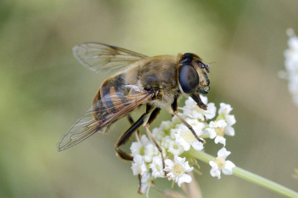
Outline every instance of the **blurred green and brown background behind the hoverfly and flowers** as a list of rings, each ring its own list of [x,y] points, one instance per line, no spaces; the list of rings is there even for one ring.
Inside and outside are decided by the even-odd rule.
[[[55,144],[90,106],[106,74],[72,56],[103,42],[148,56],[193,52],[211,65],[209,101],[229,103],[237,123],[229,160],[298,191],[298,109],[284,68],[285,30],[298,32],[292,1],[0,1],[0,197],[142,197],[114,143],[128,121],[71,149]],[[181,101],[180,106],[183,105]],[[136,118],[139,113],[134,114]],[[163,111],[153,125],[170,119]],[[143,131],[144,132],[144,131]],[[125,149],[128,149],[127,145]],[[207,144],[216,155],[220,145]],[[201,163],[204,197],[280,197],[235,176],[221,180]],[[170,182],[157,180],[156,188]],[[152,189],[150,197],[162,197]]]

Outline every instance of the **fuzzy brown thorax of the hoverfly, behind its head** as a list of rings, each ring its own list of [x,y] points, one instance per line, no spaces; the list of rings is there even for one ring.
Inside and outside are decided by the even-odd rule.
[[[141,89],[159,90],[150,105],[170,109],[174,98],[180,94],[178,85],[177,58],[173,55],[155,56],[135,63],[126,75],[126,83]]]

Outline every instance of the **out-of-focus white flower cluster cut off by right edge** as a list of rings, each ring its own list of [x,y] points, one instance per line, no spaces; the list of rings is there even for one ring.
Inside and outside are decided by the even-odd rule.
[[[288,90],[292,95],[295,105],[298,107],[298,37],[294,30],[289,28],[287,34],[289,48],[285,50],[285,69],[280,76],[288,79]]]

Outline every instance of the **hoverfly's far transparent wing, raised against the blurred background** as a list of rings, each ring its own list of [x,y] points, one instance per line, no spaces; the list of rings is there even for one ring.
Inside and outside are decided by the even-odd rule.
[[[77,60],[95,72],[119,72],[147,56],[101,43],[84,43],[72,48]]]

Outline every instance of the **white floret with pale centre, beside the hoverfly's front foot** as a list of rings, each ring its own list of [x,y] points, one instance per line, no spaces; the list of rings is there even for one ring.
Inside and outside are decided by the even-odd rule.
[[[203,132],[196,130],[195,133],[197,136],[200,136]],[[188,151],[190,146],[193,146],[197,151],[204,149],[203,144],[195,138],[193,133],[184,124],[180,124],[178,129],[171,129],[171,137],[175,138],[176,143],[182,146],[184,151]]]

